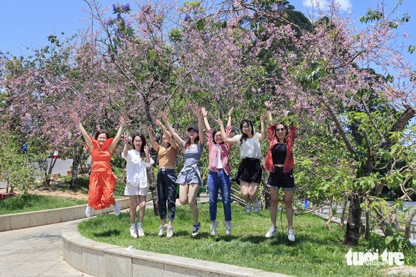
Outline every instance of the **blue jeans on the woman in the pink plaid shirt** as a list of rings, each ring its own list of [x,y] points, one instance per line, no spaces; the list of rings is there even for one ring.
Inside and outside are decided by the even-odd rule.
[[[225,221],[231,220],[231,199],[229,193],[231,191],[231,182],[229,175],[224,170],[213,172],[209,170],[208,174],[208,191],[209,191],[209,217],[211,221],[216,220],[216,203],[218,200],[218,190],[223,195],[223,206]]]

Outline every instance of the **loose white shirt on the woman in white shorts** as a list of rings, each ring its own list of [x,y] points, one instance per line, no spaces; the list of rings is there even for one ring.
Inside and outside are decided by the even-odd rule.
[[[123,152],[121,152],[121,157],[127,161],[127,178],[126,181],[133,186],[139,188],[147,188],[147,173],[146,168],[155,163],[152,158],[150,158],[150,163],[146,163],[146,159],[141,159],[140,152],[137,150],[128,150],[127,157],[124,157]]]

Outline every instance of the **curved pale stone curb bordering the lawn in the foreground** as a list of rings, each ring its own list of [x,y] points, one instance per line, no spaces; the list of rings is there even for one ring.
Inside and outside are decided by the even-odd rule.
[[[62,230],[62,244],[62,256],[69,265],[98,277],[288,277],[260,269],[117,247],[89,240],[75,228]]]

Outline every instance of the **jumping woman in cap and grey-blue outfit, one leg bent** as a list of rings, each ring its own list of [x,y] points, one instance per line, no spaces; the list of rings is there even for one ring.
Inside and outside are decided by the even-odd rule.
[[[202,184],[202,178],[200,173],[200,159],[205,142],[204,133],[202,131],[202,118],[200,115],[200,109],[193,110],[194,114],[198,118],[198,127],[191,125],[188,127],[188,140],[184,141],[177,135],[171,124],[168,123],[166,114],[161,113],[162,120],[168,127],[169,132],[172,134],[175,141],[182,146],[184,152],[184,167],[177,175],[176,183],[180,184],[179,187],[179,201],[180,204],[189,204],[193,215],[193,227],[192,236],[195,237],[200,231],[200,222],[198,222],[198,206],[196,206],[196,196],[198,190]]]

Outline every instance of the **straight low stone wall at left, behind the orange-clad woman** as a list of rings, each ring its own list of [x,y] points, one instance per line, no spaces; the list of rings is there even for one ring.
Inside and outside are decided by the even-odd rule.
[[[130,207],[128,198],[117,199],[117,203],[119,203],[121,210]],[[0,215],[0,232],[80,220],[85,217],[85,208],[87,208],[86,204],[29,213]],[[104,210],[93,211],[92,215],[101,215],[102,213],[111,213],[113,211],[114,206],[110,206],[110,208],[105,208]]]

